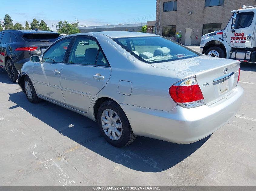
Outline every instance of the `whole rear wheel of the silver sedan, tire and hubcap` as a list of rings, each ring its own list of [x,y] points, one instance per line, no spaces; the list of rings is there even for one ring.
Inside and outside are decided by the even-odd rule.
[[[125,112],[113,100],[107,100],[99,107],[98,126],[106,141],[115,147],[129,145],[137,137]]]

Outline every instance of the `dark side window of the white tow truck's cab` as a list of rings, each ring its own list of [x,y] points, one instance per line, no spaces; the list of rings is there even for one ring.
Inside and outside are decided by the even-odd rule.
[[[235,28],[246,28],[251,25],[251,22],[254,17],[254,12],[245,12],[245,13],[238,13],[235,20]]]

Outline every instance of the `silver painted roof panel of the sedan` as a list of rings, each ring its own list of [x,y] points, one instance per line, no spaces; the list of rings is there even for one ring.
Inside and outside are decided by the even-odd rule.
[[[122,38],[122,37],[159,37],[159,35],[150,34],[150,33],[139,33],[139,32],[127,32],[127,31],[103,31],[103,32],[91,32],[91,33],[77,33],[69,36],[77,35],[88,35],[88,36],[97,36],[97,35],[106,35],[110,38]],[[66,37],[69,37],[66,36]]]

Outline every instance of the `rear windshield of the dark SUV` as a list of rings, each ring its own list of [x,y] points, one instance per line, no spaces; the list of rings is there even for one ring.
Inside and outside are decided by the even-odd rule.
[[[22,38],[28,42],[55,42],[60,37],[58,34],[36,33],[36,34],[24,34]]]

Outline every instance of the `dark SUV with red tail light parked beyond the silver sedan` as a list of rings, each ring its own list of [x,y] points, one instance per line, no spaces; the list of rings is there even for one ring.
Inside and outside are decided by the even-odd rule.
[[[0,67],[5,68],[12,82],[30,56],[40,56],[59,39],[58,33],[41,30],[5,30],[0,32]]]

